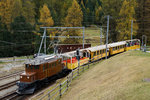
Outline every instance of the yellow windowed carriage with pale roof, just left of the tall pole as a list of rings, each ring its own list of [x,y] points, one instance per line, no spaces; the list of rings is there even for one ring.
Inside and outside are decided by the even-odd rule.
[[[87,48],[87,50],[90,52],[91,61],[106,57],[106,45]],[[109,51],[107,52],[107,56],[109,56]]]

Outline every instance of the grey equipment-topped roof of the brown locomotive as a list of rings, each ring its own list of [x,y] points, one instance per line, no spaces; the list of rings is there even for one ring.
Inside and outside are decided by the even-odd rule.
[[[32,60],[28,60],[25,64],[31,64],[31,65],[40,65],[47,62],[54,62],[58,58],[60,58],[57,55],[44,55],[44,56],[38,56]]]

